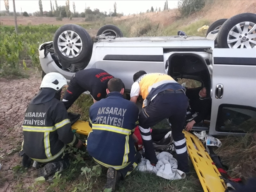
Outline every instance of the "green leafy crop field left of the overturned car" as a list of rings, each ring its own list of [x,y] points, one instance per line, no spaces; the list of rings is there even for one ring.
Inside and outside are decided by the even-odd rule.
[[[14,26],[0,28],[0,76],[24,76],[29,69],[28,59],[33,67],[40,68],[38,47],[41,43],[52,40],[59,26],[38,25],[19,26],[21,33],[16,34]],[[48,32],[47,32],[48,31]]]

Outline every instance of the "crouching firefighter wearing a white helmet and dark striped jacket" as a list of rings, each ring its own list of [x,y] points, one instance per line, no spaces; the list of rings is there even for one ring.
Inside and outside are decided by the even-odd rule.
[[[67,110],[61,99],[66,79],[59,73],[48,73],[41,83],[41,90],[31,100],[24,118],[21,155],[23,166],[28,159],[45,164],[40,176],[48,178],[69,164],[68,156],[62,158],[67,145],[82,146],[71,130]]]

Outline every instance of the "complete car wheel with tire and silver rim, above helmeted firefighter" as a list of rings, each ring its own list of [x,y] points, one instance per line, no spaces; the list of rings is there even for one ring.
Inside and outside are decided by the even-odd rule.
[[[55,53],[60,60],[71,64],[88,60],[92,55],[92,45],[92,38],[87,31],[76,24],[63,25],[54,35]]]

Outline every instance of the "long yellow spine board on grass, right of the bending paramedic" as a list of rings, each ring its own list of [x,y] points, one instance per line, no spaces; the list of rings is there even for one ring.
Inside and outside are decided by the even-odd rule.
[[[213,160],[204,148],[202,142],[193,134],[183,130],[187,140],[190,159],[201,182],[204,192],[225,192],[225,182],[220,178],[220,172],[213,165]]]

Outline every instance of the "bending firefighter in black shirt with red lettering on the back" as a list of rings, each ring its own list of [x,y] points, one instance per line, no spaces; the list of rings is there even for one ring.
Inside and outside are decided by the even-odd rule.
[[[62,102],[66,109],[75,102],[75,100],[86,91],[89,91],[93,97],[93,102],[106,97],[107,82],[113,76],[102,69],[84,69],[76,72],[70,80]]]

